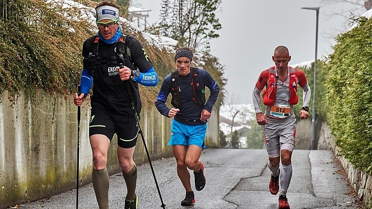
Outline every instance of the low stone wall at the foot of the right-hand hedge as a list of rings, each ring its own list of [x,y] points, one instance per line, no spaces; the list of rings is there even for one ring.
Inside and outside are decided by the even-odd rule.
[[[372,176],[362,170],[354,169],[353,165],[350,164],[344,156],[339,154],[331,131],[326,123],[322,124],[318,149],[332,150],[334,152],[336,158],[344,167],[349,182],[355,190],[358,199],[363,201],[367,208],[372,208]]]

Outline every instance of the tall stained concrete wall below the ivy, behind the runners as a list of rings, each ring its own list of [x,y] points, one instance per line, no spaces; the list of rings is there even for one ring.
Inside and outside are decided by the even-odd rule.
[[[40,91],[30,99],[24,95],[9,101],[1,94],[0,103],[0,208],[46,198],[76,188],[77,107],[72,96]],[[79,138],[79,184],[91,182],[92,150],[88,125],[90,105],[81,107]],[[218,111],[209,119],[206,145],[218,147]],[[173,156],[167,146],[170,119],[153,107],[143,107],[140,120],[143,139],[151,160]],[[110,175],[120,172],[116,156],[116,136],[109,148]],[[139,136],[134,160],[148,163]]]

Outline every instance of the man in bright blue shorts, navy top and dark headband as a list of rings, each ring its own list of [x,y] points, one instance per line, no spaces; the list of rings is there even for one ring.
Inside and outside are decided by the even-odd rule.
[[[168,145],[173,147],[177,174],[186,190],[181,205],[189,206],[195,203],[195,198],[188,169],[194,171],[196,190],[200,191],[206,185],[204,165],[199,158],[206,148],[207,120],[220,88],[207,71],[191,67],[192,52],[189,48],[177,49],[174,61],[177,70],[164,78],[155,105],[163,116],[173,118]],[[210,90],[207,102],[206,86]],[[165,105],[169,94],[174,108]]]

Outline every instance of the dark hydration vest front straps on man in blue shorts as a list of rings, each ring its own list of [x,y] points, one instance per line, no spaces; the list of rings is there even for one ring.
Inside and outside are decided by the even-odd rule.
[[[192,100],[199,105],[204,105],[206,103],[206,96],[204,93],[203,87],[199,84],[199,69],[195,67],[191,67],[191,85],[193,88],[193,96]],[[171,73],[171,89],[170,93],[172,95],[171,104],[176,107],[180,108],[180,89],[178,85],[178,71],[174,71]]]

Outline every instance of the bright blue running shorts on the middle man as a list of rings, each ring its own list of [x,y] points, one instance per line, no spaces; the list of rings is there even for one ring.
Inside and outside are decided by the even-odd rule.
[[[204,150],[206,148],[204,139],[206,138],[207,124],[185,125],[172,120],[171,134],[168,145],[196,145]]]

